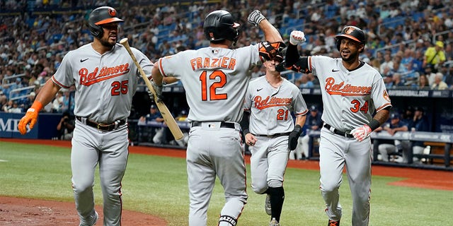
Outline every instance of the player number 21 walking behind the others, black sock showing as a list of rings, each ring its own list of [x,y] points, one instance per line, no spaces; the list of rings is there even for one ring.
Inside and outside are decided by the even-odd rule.
[[[253,147],[251,187],[256,194],[267,194],[265,210],[270,215],[269,226],[280,226],[289,151],[296,148],[308,112],[299,88],[275,71],[275,65],[281,61],[279,57],[265,61],[265,76],[248,84],[246,113],[241,122],[246,143]],[[295,126],[291,112],[296,118]]]

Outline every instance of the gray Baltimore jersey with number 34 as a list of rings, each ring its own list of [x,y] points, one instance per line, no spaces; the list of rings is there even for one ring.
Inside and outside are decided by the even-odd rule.
[[[348,71],[340,58],[313,56],[308,61],[323,90],[322,119],[333,128],[349,132],[369,124],[374,110],[391,106],[382,76],[372,66]]]

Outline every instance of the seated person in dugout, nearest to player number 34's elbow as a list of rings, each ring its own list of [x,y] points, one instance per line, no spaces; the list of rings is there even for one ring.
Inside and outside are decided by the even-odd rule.
[[[398,131],[408,131],[407,124],[404,124],[400,120],[398,113],[391,114],[390,123],[380,126],[375,131],[387,131],[391,136],[394,136]],[[382,140],[379,141],[379,154],[381,154],[382,161],[389,162],[389,154],[394,154],[396,156],[403,155],[403,149],[408,148],[408,142],[400,140]],[[395,160],[396,162],[402,162],[403,160]]]

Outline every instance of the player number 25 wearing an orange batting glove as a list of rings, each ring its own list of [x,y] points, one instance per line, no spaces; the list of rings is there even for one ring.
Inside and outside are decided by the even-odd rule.
[[[94,225],[98,220],[93,197],[96,165],[99,165],[103,191],[103,223],[121,224],[121,181],[129,145],[127,117],[141,76],[125,47],[116,43],[120,22],[123,20],[117,17],[115,8],[94,9],[88,18],[93,42],[64,56],[57,72],[45,83],[18,124],[22,134],[33,129],[42,106],[47,105],[60,88],[75,85],[71,180],[80,225],[84,226]],[[150,74],[151,61],[137,49],[132,48],[132,52],[145,73]]]

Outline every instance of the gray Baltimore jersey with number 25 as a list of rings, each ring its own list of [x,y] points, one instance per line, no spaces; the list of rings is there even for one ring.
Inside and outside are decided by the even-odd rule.
[[[151,74],[151,61],[142,52],[131,49],[143,71]],[[141,78],[137,71],[121,44],[115,44],[111,51],[103,55],[96,52],[91,44],[85,44],[66,54],[52,81],[62,88],[76,86],[76,116],[110,123],[129,117],[132,96]]]

